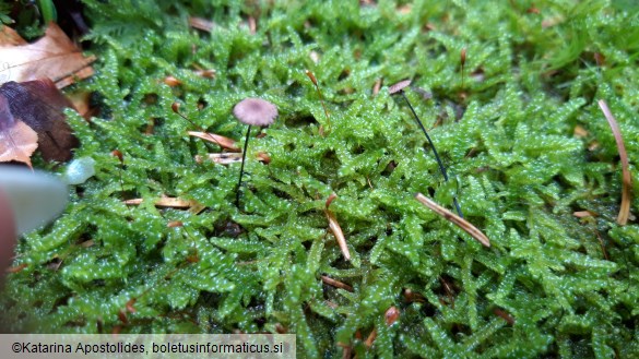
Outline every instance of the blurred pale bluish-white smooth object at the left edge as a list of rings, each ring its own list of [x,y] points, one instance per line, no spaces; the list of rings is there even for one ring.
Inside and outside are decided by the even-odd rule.
[[[0,188],[11,204],[19,236],[50,222],[67,206],[67,186],[43,171],[0,166]]]

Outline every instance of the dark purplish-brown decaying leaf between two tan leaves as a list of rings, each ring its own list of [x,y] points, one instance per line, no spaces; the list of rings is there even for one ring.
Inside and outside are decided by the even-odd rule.
[[[73,108],[73,105],[51,80],[7,82],[0,87],[0,97],[5,99],[16,122],[23,121],[37,133],[38,146],[46,160],[71,158],[78,139],[64,120],[63,109]]]

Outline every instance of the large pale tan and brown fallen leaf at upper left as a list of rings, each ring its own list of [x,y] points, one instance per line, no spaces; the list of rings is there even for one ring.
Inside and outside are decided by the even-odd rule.
[[[0,59],[9,63],[5,81],[49,77],[59,88],[73,83],[73,77],[92,75],[88,65],[95,61],[93,56],[83,56],[55,23],[49,24],[45,36],[33,44],[16,43],[14,36],[0,36]]]

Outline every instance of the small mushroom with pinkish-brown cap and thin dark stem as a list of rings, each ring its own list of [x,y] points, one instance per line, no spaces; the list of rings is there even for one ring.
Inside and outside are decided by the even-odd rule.
[[[244,142],[244,152],[241,154],[241,168],[239,170],[239,180],[237,182],[237,192],[235,196],[235,204],[239,206],[239,190],[241,188],[241,177],[244,176],[244,163],[246,160],[246,152],[248,141],[251,133],[251,125],[264,127],[273,123],[277,117],[277,107],[275,105],[261,98],[245,98],[233,108],[233,115],[242,123],[248,124],[246,131],[246,140]]]

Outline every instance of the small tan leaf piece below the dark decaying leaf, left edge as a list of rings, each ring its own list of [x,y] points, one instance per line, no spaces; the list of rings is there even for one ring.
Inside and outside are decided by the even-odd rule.
[[[31,166],[31,155],[38,147],[38,135],[24,122],[15,120],[4,96],[0,96],[0,161],[16,160]]]

